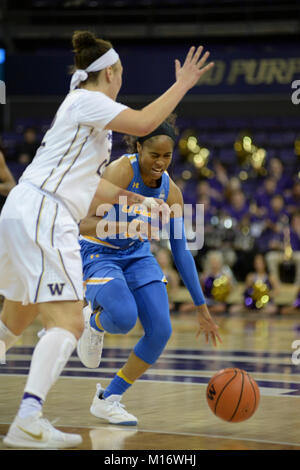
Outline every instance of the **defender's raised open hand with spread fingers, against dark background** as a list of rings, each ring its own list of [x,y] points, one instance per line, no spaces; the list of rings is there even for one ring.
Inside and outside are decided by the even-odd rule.
[[[206,64],[210,53],[206,51],[202,55],[202,52],[203,46],[199,46],[197,50],[192,46],[182,66],[178,59],[175,60],[176,81],[183,81],[188,89],[193,88],[202,75],[214,66],[213,62]]]

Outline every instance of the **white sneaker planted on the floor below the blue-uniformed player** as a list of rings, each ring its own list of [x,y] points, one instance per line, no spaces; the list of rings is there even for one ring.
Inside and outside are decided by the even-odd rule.
[[[125,410],[125,405],[120,403],[121,395],[110,395],[108,398],[99,398],[104,389],[97,384],[90,412],[97,418],[102,418],[111,424],[122,424],[123,426],[135,426],[137,418]]]

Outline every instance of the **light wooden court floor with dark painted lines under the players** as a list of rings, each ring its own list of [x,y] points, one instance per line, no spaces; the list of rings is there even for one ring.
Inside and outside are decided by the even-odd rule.
[[[108,384],[126,361],[141,336],[139,325],[126,337],[106,335],[97,370],[84,368],[74,353],[48,395],[44,415],[59,429],[80,433],[79,450],[300,450],[300,364],[292,362],[300,317],[217,321],[223,344],[213,348],[204,338],[196,340],[192,315],[174,317],[163,355],[123,399],[138,426],[104,423],[89,407],[96,384]],[[0,365],[2,437],[18,409],[39,329],[36,321]],[[210,377],[225,367],[246,370],[260,387],[259,408],[243,423],[220,420],[206,403]]]

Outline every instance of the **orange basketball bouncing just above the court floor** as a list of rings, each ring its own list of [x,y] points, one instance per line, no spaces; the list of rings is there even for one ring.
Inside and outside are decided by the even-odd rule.
[[[222,369],[210,379],[206,399],[218,418],[239,423],[254,414],[260,393],[257,383],[248,372],[241,369]]]

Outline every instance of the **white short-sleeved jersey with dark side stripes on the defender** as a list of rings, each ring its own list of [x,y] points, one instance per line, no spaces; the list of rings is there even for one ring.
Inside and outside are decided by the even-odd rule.
[[[20,183],[55,194],[79,222],[110,159],[112,132],[104,127],[126,108],[101,92],[69,93]]]

